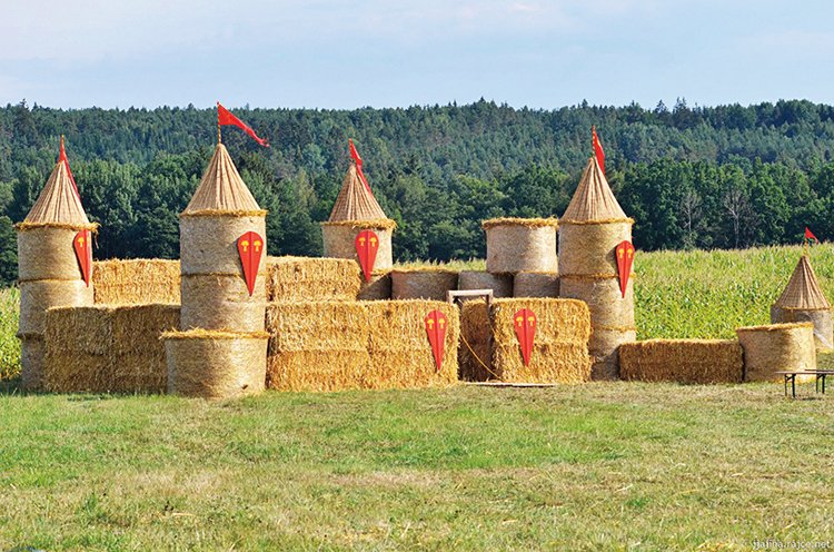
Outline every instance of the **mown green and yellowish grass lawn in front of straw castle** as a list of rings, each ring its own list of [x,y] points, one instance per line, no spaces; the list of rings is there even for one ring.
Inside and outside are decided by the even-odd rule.
[[[832,542],[834,398],[778,384],[0,396],[0,550]]]

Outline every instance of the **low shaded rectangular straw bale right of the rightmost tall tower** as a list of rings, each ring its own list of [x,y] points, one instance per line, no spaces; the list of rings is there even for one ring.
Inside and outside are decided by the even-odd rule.
[[[619,346],[619,376],[628,381],[741,383],[742,347],[735,339],[648,339]]]

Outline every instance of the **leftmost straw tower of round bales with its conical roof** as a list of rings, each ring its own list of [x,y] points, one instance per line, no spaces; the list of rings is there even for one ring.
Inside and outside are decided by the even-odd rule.
[[[83,280],[75,238],[95,230],[81,206],[68,164],[59,160],[38,200],[18,230],[21,376],[23,387],[39,390],[43,373],[47,309],[92,305],[93,286]]]

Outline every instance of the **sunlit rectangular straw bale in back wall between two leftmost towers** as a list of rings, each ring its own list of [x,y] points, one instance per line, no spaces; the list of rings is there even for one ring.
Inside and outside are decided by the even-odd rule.
[[[97,305],[179,303],[179,260],[111,259],[92,265]]]

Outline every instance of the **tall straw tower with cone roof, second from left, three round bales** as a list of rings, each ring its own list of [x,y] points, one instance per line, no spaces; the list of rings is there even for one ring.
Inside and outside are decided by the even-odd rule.
[[[181,332],[163,335],[170,393],[226,398],[264,388],[265,217],[218,144],[193,198],[180,214]],[[238,238],[248,231],[264,238],[251,295],[238,253]]]

